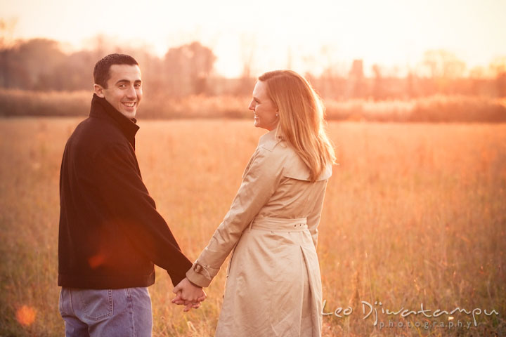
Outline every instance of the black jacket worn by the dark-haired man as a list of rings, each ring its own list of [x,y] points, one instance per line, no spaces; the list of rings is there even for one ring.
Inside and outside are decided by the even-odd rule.
[[[153,263],[173,284],[192,263],[156,210],[138,168],[138,126],[93,95],[89,118],[70,136],[60,171],[58,285],[150,286]]]

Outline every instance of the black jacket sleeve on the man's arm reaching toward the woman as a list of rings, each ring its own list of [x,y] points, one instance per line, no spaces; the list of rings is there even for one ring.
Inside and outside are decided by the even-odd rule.
[[[156,210],[131,149],[104,145],[96,154],[100,195],[117,224],[139,253],[167,270],[172,283],[185,277],[191,262],[184,256],[169,226]]]

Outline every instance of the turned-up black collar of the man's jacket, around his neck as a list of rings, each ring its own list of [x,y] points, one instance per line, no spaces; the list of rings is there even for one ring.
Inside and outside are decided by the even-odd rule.
[[[93,93],[93,99],[91,100],[89,116],[111,121],[122,131],[131,145],[135,147],[135,135],[139,129],[138,125],[136,125],[137,120],[135,118],[129,119],[125,117],[121,112],[112,107],[105,98],[100,98],[95,93]]]

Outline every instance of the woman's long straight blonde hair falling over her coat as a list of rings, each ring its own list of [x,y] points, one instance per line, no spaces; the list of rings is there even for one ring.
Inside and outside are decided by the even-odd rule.
[[[278,108],[277,133],[295,149],[309,168],[309,180],[316,181],[335,152],[325,131],[325,107],[304,77],[292,70],[266,72],[259,81]]]

